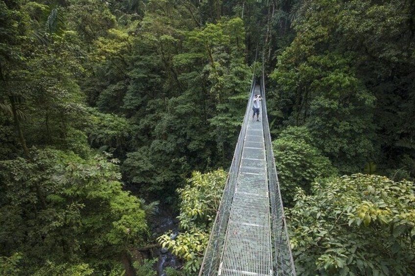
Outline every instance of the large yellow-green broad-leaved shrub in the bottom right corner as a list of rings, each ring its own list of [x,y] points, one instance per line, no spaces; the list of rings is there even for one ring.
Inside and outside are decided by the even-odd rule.
[[[301,275],[412,275],[415,205],[412,182],[355,174],[299,190],[288,212]]]

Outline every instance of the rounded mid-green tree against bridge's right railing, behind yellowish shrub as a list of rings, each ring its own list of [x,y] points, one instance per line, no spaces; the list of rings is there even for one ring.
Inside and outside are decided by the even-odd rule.
[[[313,146],[306,127],[287,127],[273,141],[273,149],[284,206],[294,205],[296,188],[309,193],[316,178],[337,173],[330,160]]]

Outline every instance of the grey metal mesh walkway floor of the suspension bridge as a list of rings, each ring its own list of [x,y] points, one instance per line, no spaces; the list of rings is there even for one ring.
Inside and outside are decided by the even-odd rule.
[[[249,121],[218,275],[273,275],[263,133]]]

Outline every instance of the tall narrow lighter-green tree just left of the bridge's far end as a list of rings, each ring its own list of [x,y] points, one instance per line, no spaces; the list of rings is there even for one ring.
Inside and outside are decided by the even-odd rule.
[[[223,165],[224,156],[232,153],[226,149],[233,148],[233,142],[230,142],[236,140],[242,123],[252,75],[241,58],[245,49],[243,27],[239,18],[223,19],[216,24],[207,24],[202,30],[190,32],[185,42],[192,52],[203,53],[204,60],[208,61],[203,72],[210,82],[210,100],[215,103],[209,123],[222,153]]]

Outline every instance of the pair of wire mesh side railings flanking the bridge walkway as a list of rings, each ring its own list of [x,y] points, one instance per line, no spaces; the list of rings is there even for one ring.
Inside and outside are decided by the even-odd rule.
[[[202,262],[199,276],[218,275],[220,267],[220,256],[223,251],[228,219],[231,212],[231,205],[236,186],[236,179],[239,173],[239,167],[242,157],[242,149],[244,146],[244,137],[248,124],[249,115],[252,107],[253,94],[255,89],[255,78],[251,86],[250,98],[245,112],[244,122],[239,133],[239,138],[235,147],[231,168],[229,170],[228,179],[225,185],[224,193],[219,205],[219,209],[212,226],[212,232],[209,236],[208,247]],[[264,98],[262,102],[262,123],[264,129],[264,139],[266,147],[267,169],[268,169],[268,185],[270,196],[270,207],[272,213],[272,235],[274,250],[274,275],[292,275],[296,276],[293,255],[287,231],[286,220],[284,216],[281,194],[279,190],[277,170],[275,167],[274,154],[271,144],[271,135],[267,117],[267,109],[265,104],[265,86],[264,86],[264,70],[262,70],[260,82],[261,95]]]

